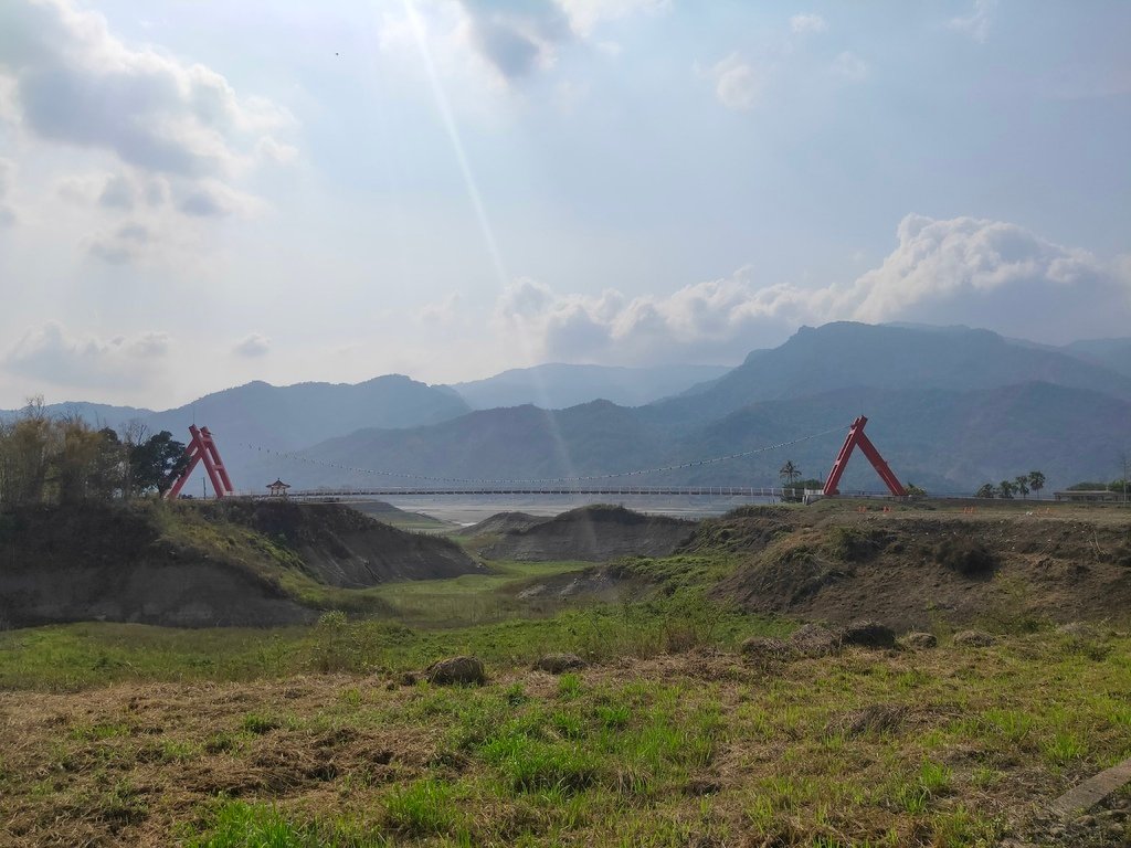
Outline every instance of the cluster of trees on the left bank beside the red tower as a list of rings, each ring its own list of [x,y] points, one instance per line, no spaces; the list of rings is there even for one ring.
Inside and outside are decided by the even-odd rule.
[[[48,415],[36,399],[0,421],[0,508],[162,495],[187,464],[169,431],[96,430],[78,415]]]

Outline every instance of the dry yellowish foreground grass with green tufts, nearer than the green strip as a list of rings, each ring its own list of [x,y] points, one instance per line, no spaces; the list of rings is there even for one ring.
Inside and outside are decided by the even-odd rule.
[[[348,640],[372,634],[340,626],[334,650],[348,665]],[[7,691],[0,834],[216,847],[993,845],[1034,801],[1131,755],[1125,635],[854,649],[772,668],[702,646],[615,644],[553,677],[504,647],[508,630],[452,634],[489,656],[495,644],[477,689],[402,685],[391,668],[278,666],[265,680],[270,663],[248,660],[254,639],[242,634],[227,666],[239,682],[210,680],[217,667],[192,686]],[[553,647],[592,644],[578,635]],[[49,637],[24,652],[58,644]],[[170,656],[152,631],[123,637],[136,657]],[[196,639],[225,652],[216,634]],[[311,647],[311,634],[291,639],[268,641],[284,657]],[[167,672],[156,660],[132,670]]]

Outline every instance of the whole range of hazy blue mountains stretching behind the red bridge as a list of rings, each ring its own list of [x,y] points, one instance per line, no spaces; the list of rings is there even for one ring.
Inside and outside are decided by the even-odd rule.
[[[1131,339],[1055,348],[965,327],[837,322],[801,328],[734,369],[551,364],[455,386],[253,382],[162,413],[60,406],[174,434],[208,424],[248,491],[276,476],[299,487],[422,485],[681,465],[631,481],[777,485],[787,459],[823,477],[861,414],[905,482],[969,492],[1042,470],[1051,491],[1119,475],[1131,449]],[[849,464],[843,491],[879,487],[863,459]]]

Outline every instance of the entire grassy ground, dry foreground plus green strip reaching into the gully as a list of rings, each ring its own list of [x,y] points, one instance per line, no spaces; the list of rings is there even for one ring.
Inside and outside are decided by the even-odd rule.
[[[619,563],[647,588],[614,604],[532,611],[523,588],[589,565],[494,563],[364,590],[309,628],[0,632],[0,845],[1067,848],[1131,837],[1125,817],[1070,837],[1038,820],[1131,756],[1122,625],[1069,633],[998,616],[996,642],[972,648],[940,615],[934,649],[753,660],[744,639],[785,638],[797,622],[710,599],[741,556],[727,553],[733,536],[717,542]],[[331,608],[336,592],[351,596],[325,591]],[[552,651],[589,665],[533,670]],[[484,660],[486,685],[409,674],[457,654]]]

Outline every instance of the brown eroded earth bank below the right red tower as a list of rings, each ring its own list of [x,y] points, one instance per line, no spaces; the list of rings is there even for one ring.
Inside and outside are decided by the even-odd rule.
[[[912,629],[1131,609],[1128,522],[1071,510],[740,510],[705,521],[689,545],[720,548],[742,565],[715,597],[753,612]]]

